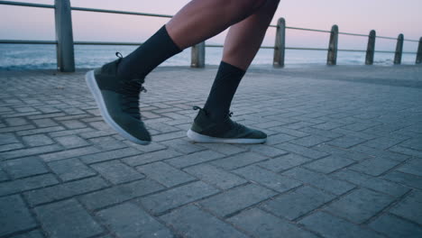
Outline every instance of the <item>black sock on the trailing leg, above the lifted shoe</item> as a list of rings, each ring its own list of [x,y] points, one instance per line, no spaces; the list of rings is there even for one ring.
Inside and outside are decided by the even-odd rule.
[[[145,78],[152,69],[159,66],[182,50],[171,40],[165,26],[134,50],[119,64],[117,74],[124,78]]]

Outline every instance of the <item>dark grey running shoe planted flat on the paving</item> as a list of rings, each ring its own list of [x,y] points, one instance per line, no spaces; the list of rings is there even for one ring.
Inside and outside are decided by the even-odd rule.
[[[227,115],[225,121],[216,123],[204,109],[194,106],[194,110],[198,109],[199,113],[188,131],[188,138],[193,142],[263,143],[267,141],[267,134],[235,123],[230,119],[231,114]]]

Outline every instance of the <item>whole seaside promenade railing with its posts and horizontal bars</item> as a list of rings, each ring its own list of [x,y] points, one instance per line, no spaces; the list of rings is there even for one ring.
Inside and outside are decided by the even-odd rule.
[[[105,14],[130,14],[130,15],[141,15],[161,18],[171,18],[172,15],[168,14],[147,14],[138,12],[127,12],[127,11],[115,11],[105,9],[95,9],[86,7],[71,7],[69,0],[55,0],[54,5],[41,5],[31,4],[22,2],[11,2],[11,1],[0,1],[0,5],[17,5],[17,6],[28,6],[38,8],[50,8],[54,9],[55,12],[55,26],[56,26],[56,41],[24,41],[24,40],[0,40],[0,43],[14,43],[14,44],[55,44],[57,51],[57,64],[60,71],[73,72],[75,71],[75,59],[74,59],[74,45],[140,45],[139,42],[115,42],[115,41],[73,41],[73,29],[71,21],[71,11],[83,11],[83,12],[94,12],[94,13],[105,13]],[[375,52],[380,53],[394,53],[394,64],[401,63],[402,54],[416,54],[416,64],[422,63],[422,37],[419,41],[404,39],[403,34],[399,34],[398,38],[376,36],[376,32],[372,30],[369,35],[356,34],[349,32],[339,32],[338,26],[333,25],[331,31],[307,29],[299,27],[288,27],[284,18],[280,18],[277,25],[270,25],[272,28],[276,28],[276,39],[275,45],[261,46],[261,49],[272,49],[274,50],[273,66],[283,67],[285,60],[285,50],[325,50],[328,52],[326,63],[327,65],[336,65],[337,52],[348,51],[348,52],[366,52],[366,65],[372,65]],[[286,29],[308,31],[308,32],[325,32],[330,33],[330,41],[328,48],[302,48],[302,47],[287,47],[286,46]],[[366,50],[348,50],[338,49],[338,36],[339,34],[349,36],[359,36],[368,38],[368,46]],[[386,39],[397,41],[396,50],[375,50],[376,39]],[[418,42],[417,52],[404,52],[403,42]],[[201,42],[192,47],[191,51],[191,67],[203,68],[205,67],[205,48],[206,47],[223,47],[223,45],[217,44],[205,44]]]

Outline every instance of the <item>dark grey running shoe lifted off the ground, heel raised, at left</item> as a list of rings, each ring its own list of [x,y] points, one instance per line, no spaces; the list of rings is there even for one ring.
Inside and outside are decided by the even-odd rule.
[[[96,105],[105,122],[131,142],[149,144],[151,135],[141,121],[139,95],[146,91],[142,79],[126,79],[117,76],[119,58],[103,67],[87,72],[87,86],[96,99]]]

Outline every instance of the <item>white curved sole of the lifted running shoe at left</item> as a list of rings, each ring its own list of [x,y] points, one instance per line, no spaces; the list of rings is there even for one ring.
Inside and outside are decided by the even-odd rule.
[[[92,95],[96,99],[96,105],[98,105],[98,109],[99,109],[101,115],[103,116],[106,124],[110,125],[113,129],[115,129],[115,131],[117,133],[120,133],[125,139],[127,139],[131,142],[139,143],[139,144],[142,144],[142,145],[147,145],[147,144],[151,143],[151,142],[148,142],[148,141],[142,141],[142,140],[137,139],[136,137],[134,137],[130,133],[127,133],[126,131],[124,131],[124,129],[122,127],[120,127],[118,124],[115,123],[115,121],[112,119],[111,115],[108,114],[107,108],[105,107],[104,98],[101,95],[101,91],[100,91],[98,85],[96,84],[96,78],[95,78],[95,75],[94,75],[94,70],[88,71],[87,74],[85,75],[85,79],[87,81],[87,87],[89,88]]]

